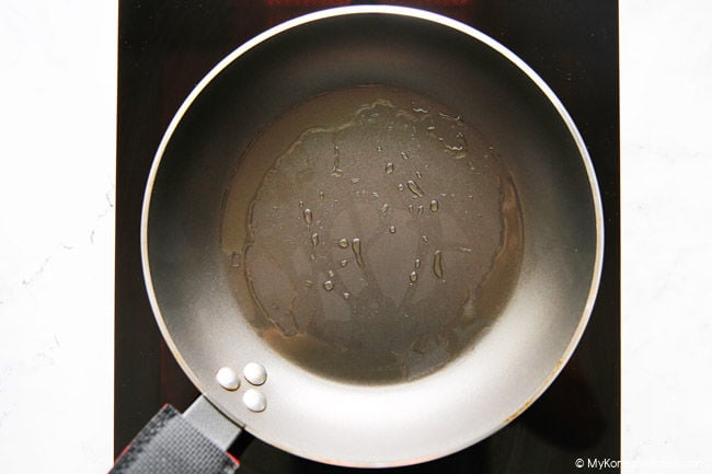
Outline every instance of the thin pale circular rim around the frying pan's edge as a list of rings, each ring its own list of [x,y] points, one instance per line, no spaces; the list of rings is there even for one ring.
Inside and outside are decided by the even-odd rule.
[[[602,261],[604,261],[604,212],[602,212],[602,203],[601,203],[601,196],[600,196],[600,190],[597,184],[593,162],[590,160],[590,157],[588,154],[588,150],[586,149],[586,146],[584,143],[583,137],[581,136],[578,129],[576,128],[573,118],[570,116],[569,112],[565,109],[564,105],[561,103],[559,97],[554,94],[554,92],[549,88],[549,85],[541,79],[541,77],[533,71],[524,60],[521,60],[518,56],[516,56],[513,51],[510,51],[508,48],[506,48],[504,45],[498,43],[497,41],[491,38],[490,36],[485,35],[484,33],[464,24],[461,23],[457,20],[452,20],[450,18],[444,16],[438,13],[425,11],[425,10],[420,10],[415,8],[407,8],[407,7],[395,7],[395,5],[347,5],[347,7],[337,7],[337,8],[332,8],[332,9],[326,9],[326,10],[321,10],[317,11],[313,13],[309,13],[302,16],[298,16],[296,19],[289,20],[287,22],[284,22],[279,25],[273,26],[272,28],[259,34],[257,36],[253,37],[252,39],[248,41],[246,43],[242,44],[239,46],[237,49],[234,49],[232,53],[230,53],[228,56],[226,56],[222,60],[220,60],[198,83],[197,85],[191,91],[188,96],[183,101],[179,109],[176,111],[175,115],[171,119],[164,135],[161,138],[161,141],[159,143],[159,147],[157,149],[157,152],[153,158],[153,162],[151,164],[149,175],[147,178],[147,184],[146,184],[146,189],[143,194],[143,200],[142,200],[142,208],[141,208],[141,221],[140,221],[140,252],[141,252],[141,265],[142,265],[142,271],[143,271],[143,280],[146,285],[146,290],[148,293],[148,299],[151,305],[151,310],[153,312],[154,319],[157,321],[157,324],[161,331],[162,337],[165,340],[166,345],[169,346],[171,352],[173,356],[176,358],[179,365],[181,368],[184,370],[191,382],[198,389],[200,390],[202,393],[204,393],[214,404],[216,404],[225,414],[226,416],[230,417],[231,419],[234,420],[233,416],[228,415],[230,411],[225,409],[223,406],[220,406],[218,401],[213,400],[209,394],[209,390],[206,389],[205,384],[198,379],[197,374],[191,369],[191,366],[187,363],[187,361],[183,358],[181,355],[181,351],[173,339],[170,328],[166,325],[166,320],[163,316],[158,298],[156,294],[156,290],[153,287],[153,280],[151,277],[151,268],[150,268],[150,263],[149,263],[149,248],[148,248],[148,226],[149,226],[149,216],[150,216],[150,201],[151,201],[151,195],[153,192],[153,186],[156,184],[156,177],[158,174],[158,171],[160,169],[162,159],[165,154],[165,150],[168,148],[169,142],[171,141],[171,138],[173,137],[179,124],[185,116],[185,114],[188,112],[193,103],[196,101],[196,99],[200,95],[200,93],[214,81],[214,79],[220,74],[229,65],[234,62],[238,58],[243,56],[245,53],[250,51],[251,49],[255,48],[260,44],[266,42],[267,39],[279,35],[283,32],[286,32],[288,30],[295,28],[297,26],[317,22],[320,20],[325,20],[325,19],[331,19],[331,18],[336,18],[336,16],[342,16],[342,15],[354,15],[354,14],[386,14],[386,15],[394,15],[394,16],[407,16],[416,20],[423,20],[426,22],[432,22],[436,23],[446,27],[449,27],[451,30],[455,30],[459,33],[462,33],[471,38],[473,38],[476,42],[480,42],[497,53],[499,56],[505,58],[507,61],[509,61],[512,65],[514,65],[519,71],[521,71],[532,83],[536,85],[537,89],[539,89],[544,96],[547,97],[548,102],[554,107],[559,116],[561,117],[563,124],[566,126],[566,129],[569,131],[570,137],[573,139],[581,161],[584,165],[584,169],[586,171],[586,175],[588,178],[588,190],[590,193],[592,201],[593,201],[593,212],[596,219],[595,222],[595,229],[596,229],[596,252],[594,256],[594,264],[593,264],[593,273],[592,273],[592,280],[590,280],[590,287],[588,290],[588,294],[586,298],[586,302],[584,305],[584,310],[582,312],[582,315],[578,320],[578,325],[576,326],[571,340],[569,345],[566,346],[565,350],[563,351],[561,358],[559,359],[558,363],[555,367],[552,368],[551,372],[549,375],[541,382],[541,384],[530,394],[526,403],[524,403],[517,411],[515,411],[510,416],[504,418],[499,425],[493,426],[489,432],[486,432],[485,436],[481,437],[480,439],[476,440],[462,440],[463,442],[460,443],[459,446],[452,447],[450,446],[450,450],[447,452],[443,453],[437,453],[433,455],[428,455],[427,459],[401,459],[401,460],[391,460],[388,463],[382,463],[382,462],[371,462],[371,461],[365,461],[363,463],[355,463],[352,461],[347,462],[342,462],[341,460],[321,460],[315,456],[315,453],[312,452],[300,452],[298,449],[295,449],[292,446],[284,446],[283,443],[276,442],[275,440],[272,439],[269,436],[263,436],[259,430],[253,430],[250,429],[251,432],[255,433],[255,436],[264,439],[265,441],[269,442],[273,446],[276,446],[280,449],[284,449],[286,451],[292,452],[295,454],[310,458],[310,459],[317,459],[322,462],[329,462],[332,464],[340,464],[340,465],[348,465],[348,466],[359,466],[359,467],[374,467],[374,466],[401,466],[401,465],[409,465],[413,463],[420,463],[420,462],[425,462],[428,460],[437,459],[443,455],[447,455],[451,452],[459,451],[460,449],[467,448],[471,446],[473,442],[476,442],[481,439],[486,438],[487,436],[494,433],[495,431],[502,429],[504,426],[506,426],[508,423],[514,420],[518,415],[520,415],[529,405],[531,405],[548,388],[549,385],[553,382],[553,380],[556,378],[556,375],[561,372],[565,363],[569,361],[571,356],[573,355],[575,348],[577,347],[583,333],[587,326],[587,323],[590,319],[590,314],[594,309],[594,304],[596,301],[596,296],[598,293],[598,289],[600,286],[600,278],[601,278],[601,273],[602,273]],[[237,420],[234,420],[237,421]],[[240,425],[243,425],[244,423],[239,423]],[[252,428],[252,427],[251,427]]]

